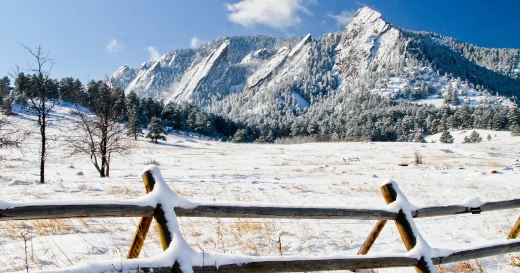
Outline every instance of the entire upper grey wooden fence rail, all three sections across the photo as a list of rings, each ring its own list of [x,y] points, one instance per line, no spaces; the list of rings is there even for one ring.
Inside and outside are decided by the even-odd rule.
[[[479,207],[463,205],[428,206],[412,210],[413,218],[449,216],[520,208],[520,199],[486,202]],[[152,206],[121,204],[37,205],[17,206],[0,210],[0,220],[28,220],[92,217],[153,216]],[[175,208],[179,217],[220,218],[292,218],[292,219],[352,219],[395,220],[397,213],[373,209],[333,209],[320,207],[228,206],[199,205],[193,209]]]

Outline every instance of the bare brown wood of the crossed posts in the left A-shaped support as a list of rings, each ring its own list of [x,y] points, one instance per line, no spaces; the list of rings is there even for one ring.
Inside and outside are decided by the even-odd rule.
[[[142,181],[145,184],[146,193],[150,193],[155,186],[155,178],[153,178],[150,170],[142,174]],[[142,245],[145,243],[146,235],[148,234],[148,230],[150,229],[153,218],[155,218],[155,222],[157,222],[157,230],[159,232],[159,238],[161,240],[163,250],[166,250],[168,246],[170,246],[170,243],[172,242],[172,235],[170,230],[168,230],[166,227],[167,220],[164,217],[162,206],[161,204],[157,204],[155,211],[153,212],[153,216],[141,217],[134,235],[134,240],[132,241],[132,245],[128,251],[128,259],[139,257],[139,253],[141,252]]]

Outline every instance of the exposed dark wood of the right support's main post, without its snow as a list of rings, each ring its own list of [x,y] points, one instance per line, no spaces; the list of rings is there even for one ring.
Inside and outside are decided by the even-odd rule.
[[[392,203],[397,200],[397,191],[394,189],[393,183],[387,183],[383,185],[381,187],[381,192],[383,193],[383,198],[385,199],[386,204]],[[411,220],[413,221],[413,219]],[[406,214],[402,211],[402,209],[400,209],[397,213],[395,225],[397,226],[397,230],[399,230],[399,234],[401,235],[402,241],[405,243],[406,250],[410,251],[414,248],[415,244],[417,244],[417,238],[415,238],[415,236],[413,235],[410,222],[407,219]],[[423,256],[421,256],[421,258],[419,259],[419,264],[415,266],[415,271],[417,271],[418,273],[431,272]]]

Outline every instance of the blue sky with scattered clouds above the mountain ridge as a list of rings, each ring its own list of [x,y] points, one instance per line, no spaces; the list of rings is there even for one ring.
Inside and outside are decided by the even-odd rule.
[[[342,30],[362,6],[401,28],[520,48],[515,0],[7,0],[0,16],[0,77],[30,60],[19,43],[49,51],[56,60],[53,77],[84,82],[220,36],[317,37]]]

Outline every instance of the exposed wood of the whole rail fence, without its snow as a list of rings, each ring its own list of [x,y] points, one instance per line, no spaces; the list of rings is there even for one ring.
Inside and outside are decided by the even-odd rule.
[[[147,193],[153,191],[155,178],[151,171],[142,175]],[[388,183],[381,187],[383,198],[387,204],[406,197],[400,192],[395,183]],[[406,211],[400,207],[397,212],[374,209],[334,209],[321,207],[277,207],[277,206],[229,206],[229,205],[199,205],[192,209],[175,207],[178,217],[228,217],[228,218],[291,218],[291,219],[362,219],[377,220],[369,236],[358,251],[357,256],[348,258],[313,258],[295,261],[294,259],[276,261],[258,261],[245,264],[193,266],[194,272],[307,272],[329,270],[356,270],[369,268],[415,267],[417,272],[432,272],[431,265],[449,264],[520,251],[520,241],[504,240],[500,243],[482,248],[472,248],[452,252],[446,256],[430,257],[430,254],[421,253],[420,258],[407,255],[392,257],[367,257],[367,254],[378,238],[379,233],[388,220],[394,220],[402,241],[408,251],[413,249],[421,235],[414,232],[413,218],[457,215],[464,213],[479,214],[482,212],[516,209],[520,207],[520,199],[482,203],[479,207],[464,205],[428,206],[417,210]],[[166,250],[172,241],[172,234],[168,230],[168,222],[161,204],[141,206],[133,204],[82,204],[82,205],[34,205],[17,206],[0,210],[0,220],[28,220],[52,218],[88,218],[88,217],[141,217],[134,240],[128,251],[127,258],[137,258],[151,226],[152,219],[157,223],[157,230],[163,250]],[[417,230],[416,230],[417,231]],[[516,221],[507,239],[515,239],[520,232],[520,218]],[[177,261],[171,261],[171,267],[139,268],[141,272],[182,272]]]

